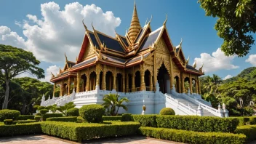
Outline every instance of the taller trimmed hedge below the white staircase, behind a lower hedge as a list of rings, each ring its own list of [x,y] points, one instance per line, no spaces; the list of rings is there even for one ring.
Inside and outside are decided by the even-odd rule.
[[[236,118],[212,116],[156,116],[157,127],[192,130],[195,132],[234,132],[239,124]]]

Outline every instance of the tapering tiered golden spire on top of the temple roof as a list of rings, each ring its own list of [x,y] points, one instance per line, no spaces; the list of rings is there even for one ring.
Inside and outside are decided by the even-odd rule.
[[[137,9],[135,4],[133,8],[132,22],[128,31],[128,36],[129,36],[129,39],[131,39],[132,43],[134,43],[137,37],[137,34],[140,32],[140,29],[141,29],[140,20],[139,20],[139,17],[137,17]]]

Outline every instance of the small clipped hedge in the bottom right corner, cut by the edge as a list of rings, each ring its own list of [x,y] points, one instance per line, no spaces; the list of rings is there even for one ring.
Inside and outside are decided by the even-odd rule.
[[[246,135],[248,142],[256,140],[256,125],[239,126],[236,128],[235,133]]]

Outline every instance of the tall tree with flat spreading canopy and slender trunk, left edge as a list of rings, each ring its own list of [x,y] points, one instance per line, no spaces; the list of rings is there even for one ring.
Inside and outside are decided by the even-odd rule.
[[[35,75],[38,79],[44,78],[44,70],[36,66],[39,63],[32,52],[0,44],[0,79],[6,84],[3,109],[7,109],[9,103],[9,83],[12,78],[25,72]]]

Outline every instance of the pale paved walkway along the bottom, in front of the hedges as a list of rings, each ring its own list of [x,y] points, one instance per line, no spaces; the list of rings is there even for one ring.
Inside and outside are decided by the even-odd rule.
[[[57,137],[50,137],[47,135],[30,135],[30,136],[16,136],[16,137],[2,137],[0,138],[0,143],[4,144],[78,144],[69,140],[63,140]],[[168,140],[158,140],[148,137],[117,137],[117,138],[108,138],[102,140],[88,140],[84,143],[100,143],[100,144],[110,144],[110,143],[131,143],[131,144],[178,144]],[[181,143],[179,143],[181,144]]]

